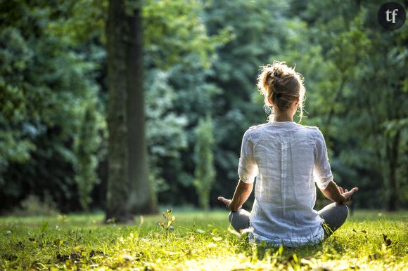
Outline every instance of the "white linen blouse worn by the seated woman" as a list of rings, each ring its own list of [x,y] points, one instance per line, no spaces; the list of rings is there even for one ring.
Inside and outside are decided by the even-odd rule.
[[[272,246],[316,244],[324,237],[313,207],[316,187],[333,180],[324,137],[317,127],[274,121],[243,135],[239,178],[253,183],[250,227],[257,241]]]

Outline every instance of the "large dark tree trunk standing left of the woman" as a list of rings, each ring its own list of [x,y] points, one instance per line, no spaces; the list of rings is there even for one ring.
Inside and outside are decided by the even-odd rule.
[[[139,4],[139,3],[136,3]],[[136,5],[135,5],[136,6]],[[138,5],[140,6],[140,4]],[[140,9],[110,0],[107,25],[109,172],[106,218],[121,222],[156,211],[148,180]]]

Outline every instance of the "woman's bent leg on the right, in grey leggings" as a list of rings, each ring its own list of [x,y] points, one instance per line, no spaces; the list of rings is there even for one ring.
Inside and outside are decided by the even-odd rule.
[[[348,207],[345,204],[333,202],[325,206],[318,213],[319,216],[324,219],[324,235],[325,237],[329,237],[345,222],[348,216]]]

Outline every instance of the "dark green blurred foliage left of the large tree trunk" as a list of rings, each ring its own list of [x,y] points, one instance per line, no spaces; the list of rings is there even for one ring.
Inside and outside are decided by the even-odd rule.
[[[60,208],[77,209],[78,197],[83,206],[89,204],[96,180],[97,131],[103,117],[98,107],[85,110],[98,100],[96,63],[75,50],[64,32],[54,31],[70,14],[68,4],[55,2],[57,10],[46,1],[0,5],[1,209],[15,206],[28,193],[51,197]],[[85,129],[92,135],[87,143],[96,147],[79,147],[85,117],[91,124]]]

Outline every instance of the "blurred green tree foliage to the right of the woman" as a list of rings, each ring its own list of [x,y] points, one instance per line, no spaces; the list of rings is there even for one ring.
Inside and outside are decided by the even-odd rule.
[[[408,115],[401,44],[406,31],[381,29],[376,19],[380,1],[334,5],[338,11],[331,9],[333,3],[293,1],[299,10],[287,13],[292,31],[283,39],[287,50],[276,58],[304,74],[305,124],[323,131],[335,180],[360,188],[356,204],[395,209],[398,201],[406,206],[406,195],[397,187],[407,183],[401,173],[407,168],[408,126],[393,126],[393,135],[385,128],[404,123]]]

